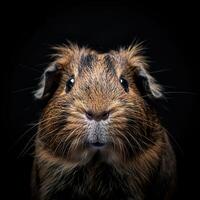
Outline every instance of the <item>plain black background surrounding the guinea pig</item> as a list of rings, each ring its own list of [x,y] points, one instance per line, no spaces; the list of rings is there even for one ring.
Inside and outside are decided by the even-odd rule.
[[[31,137],[36,128],[21,140],[18,138],[39,117],[32,91],[51,61],[51,47],[67,40],[99,51],[128,46],[134,40],[144,41],[151,73],[166,92],[167,100],[159,112],[177,155],[176,199],[194,199],[198,188],[198,183],[194,184],[198,180],[197,16],[194,5],[170,2],[7,5],[2,16],[2,39],[8,59],[4,57],[5,64],[1,66],[4,199],[29,199]]]

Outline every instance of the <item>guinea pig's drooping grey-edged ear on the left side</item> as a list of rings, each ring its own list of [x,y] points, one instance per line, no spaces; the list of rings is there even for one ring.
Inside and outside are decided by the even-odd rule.
[[[50,98],[58,88],[61,72],[56,63],[51,64],[43,73],[39,88],[34,92],[36,99]]]

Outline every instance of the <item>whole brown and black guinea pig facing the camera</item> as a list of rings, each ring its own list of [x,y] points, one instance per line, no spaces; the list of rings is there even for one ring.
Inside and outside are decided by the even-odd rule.
[[[141,45],[56,47],[35,98],[34,200],[169,200],[176,159]],[[152,103],[154,102],[154,103]]]

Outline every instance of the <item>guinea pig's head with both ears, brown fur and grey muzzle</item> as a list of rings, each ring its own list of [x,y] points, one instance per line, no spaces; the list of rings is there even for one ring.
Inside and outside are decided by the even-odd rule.
[[[140,47],[99,54],[65,46],[44,72],[35,96],[47,99],[37,139],[50,152],[73,160],[125,160],[151,135],[144,96],[160,98]],[[149,137],[149,139],[148,139]]]

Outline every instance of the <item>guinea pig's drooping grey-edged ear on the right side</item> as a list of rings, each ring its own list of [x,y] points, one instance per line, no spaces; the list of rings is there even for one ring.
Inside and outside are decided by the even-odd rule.
[[[162,87],[143,66],[136,68],[135,80],[136,86],[142,96],[150,97],[151,99],[160,99],[163,97]]]

